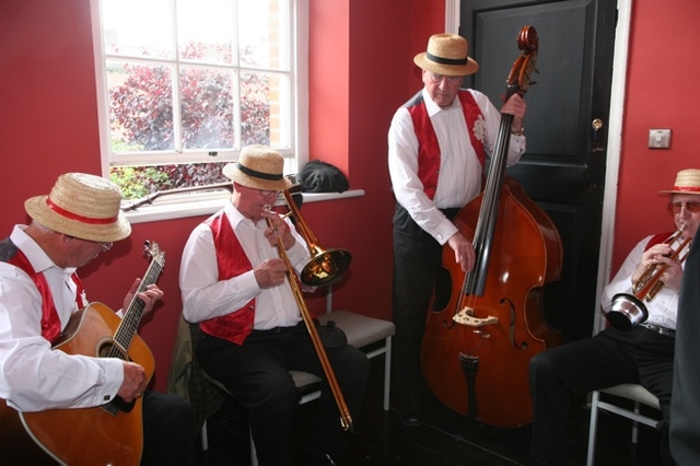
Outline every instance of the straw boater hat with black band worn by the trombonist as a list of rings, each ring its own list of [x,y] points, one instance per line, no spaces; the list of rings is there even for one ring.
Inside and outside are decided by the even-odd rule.
[[[247,145],[238,161],[223,167],[223,174],[233,182],[253,189],[282,190],[292,187],[283,175],[284,158],[267,145]]]

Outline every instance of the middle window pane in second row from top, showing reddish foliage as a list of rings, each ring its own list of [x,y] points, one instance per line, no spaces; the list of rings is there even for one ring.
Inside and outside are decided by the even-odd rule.
[[[233,82],[231,71],[180,68],[184,149],[233,148]]]

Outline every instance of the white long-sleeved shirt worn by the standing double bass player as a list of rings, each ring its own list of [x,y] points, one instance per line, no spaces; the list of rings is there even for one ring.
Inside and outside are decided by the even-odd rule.
[[[483,114],[481,128],[475,133],[482,140],[489,156],[495,144],[501,113],[485,94],[468,91]],[[441,151],[435,196],[432,200],[425,196],[423,184],[418,177],[418,138],[410,114],[405,107],[394,114],[388,131],[389,175],[396,200],[420,228],[444,245],[457,232],[457,228],[439,209],[460,208],[477,197],[481,190],[483,167],[471,147],[459,98],[455,98],[451,108],[443,109],[430,98],[425,89],[421,92]],[[524,152],[525,137],[511,136],[506,165],[517,163]]]

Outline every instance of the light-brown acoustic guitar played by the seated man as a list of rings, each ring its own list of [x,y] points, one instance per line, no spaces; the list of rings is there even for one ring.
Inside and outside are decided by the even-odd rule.
[[[165,253],[145,242],[151,264],[138,292],[155,283]],[[69,354],[119,358],[143,366],[150,381],[155,360],[137,335],[144,303],[133,298],[124,318],[102,303],[90,303],[74,313],[54,349]],[[125,403],[116,397],[93,408],[19,412],[0,399],[0,452],[12,465],[98,466],[138,465],[143,451],[141,398]]]

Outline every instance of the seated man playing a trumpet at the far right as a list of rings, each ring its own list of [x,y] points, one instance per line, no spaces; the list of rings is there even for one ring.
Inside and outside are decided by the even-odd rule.
[[[663,269],[664,287],[645,302],[648,318],[627,331],[609,327],[592,338],[573,341],[538,353],[530,361],[533,397],[533,454],[547,464],[567,464],[567,427],[571,396],[631,383],[641,384],[658,398],[663,419],[657,424],[661,457],[673,464],[668,450],[668,415],[674,369],[674,342],[678,294],[684,264],[673,254],[686,238],[692,238],[700,223],[700,170],[678,172],[667,205],[677,235],[650,235],[629,253],[617,275],[605,288],[604,313],[614,296],[632,293],[652,267]],[[673,236],[673,242],[667,242]],[[662,267],[663,266],[663,267]]]

